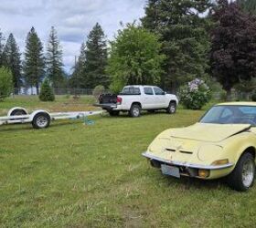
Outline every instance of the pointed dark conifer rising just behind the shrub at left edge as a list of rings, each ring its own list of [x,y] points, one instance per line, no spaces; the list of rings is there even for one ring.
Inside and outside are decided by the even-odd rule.
[[[3,65],[9,68],[12,72],[14,87],[17,89],[16,92],[18,92],[19,88],[22,85],[20,57],[21,54],[16,44],[16,39],[11,33],[8,36],[8,39],[5,44],[3,53]]]

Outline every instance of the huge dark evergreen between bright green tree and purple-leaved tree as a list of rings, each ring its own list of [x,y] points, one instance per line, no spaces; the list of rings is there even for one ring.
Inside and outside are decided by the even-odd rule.
[[[202,14],[210,6],[210,0],[148,0],[142,22],[164,44],[164,88],[176,90],[193,78],[207,77],[208,20]]]

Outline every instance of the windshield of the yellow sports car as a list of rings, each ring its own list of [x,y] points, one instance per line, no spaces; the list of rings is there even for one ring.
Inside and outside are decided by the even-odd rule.
[[[256,126],[256,106],[221,105],[208,110],[201,123],[251,124]]]

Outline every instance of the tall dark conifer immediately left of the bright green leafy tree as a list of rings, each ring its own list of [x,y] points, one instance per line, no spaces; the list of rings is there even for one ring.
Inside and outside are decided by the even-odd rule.
[[[84,87],[95,88],[98,85],[109,86],[105,73],[107,66],[107,45],[104,32],[99,23],[91,30],[86,42],[86,61],[83,74],[86,77]]]

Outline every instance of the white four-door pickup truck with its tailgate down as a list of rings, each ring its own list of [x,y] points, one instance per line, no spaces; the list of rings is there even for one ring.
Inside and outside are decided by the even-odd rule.
[[[128,111],[131,117],[139,117],[142,110],[154,112],[165,109],[175,113],[178,99],[155,86],[126,86],[119,95],[101,94],[97,107],[107,110],[111,116]]]

